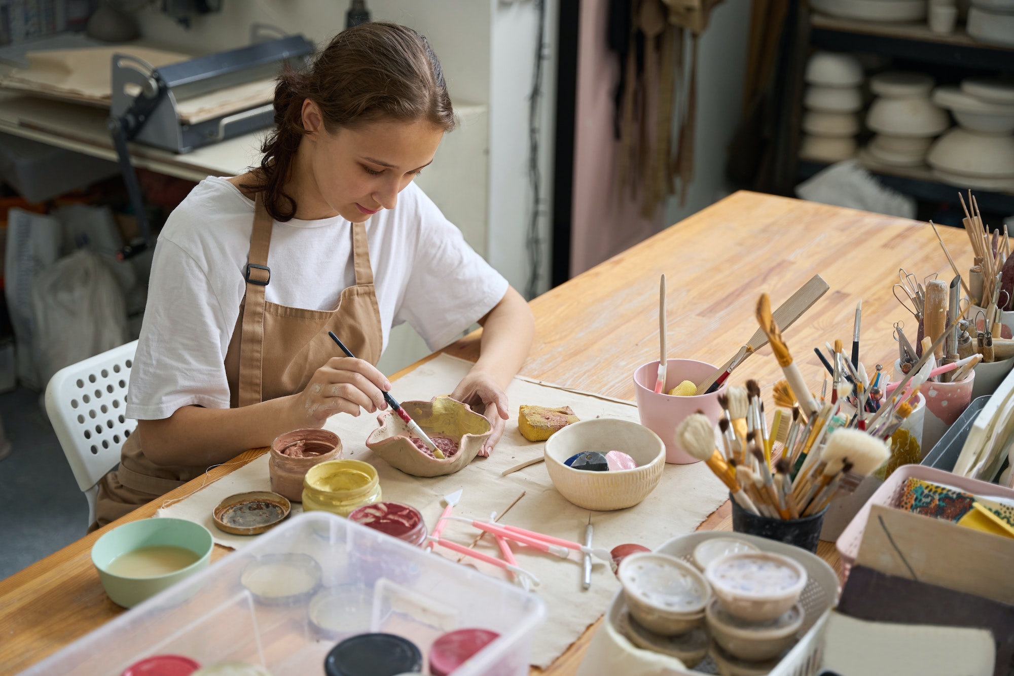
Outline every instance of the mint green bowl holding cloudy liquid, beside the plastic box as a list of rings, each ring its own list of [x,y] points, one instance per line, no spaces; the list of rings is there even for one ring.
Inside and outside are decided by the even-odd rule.
[[[154,578],[123,578],[106,570],[117,556],[141,547],[184,547],[200,558],[186,568]],[[91,562],[98,569],[105,593],[118,606],[133,608],[180,580],[208,567],[215,541],[207,528],[185,519],[142,519],[124,524],[98,538],[91,547]]]

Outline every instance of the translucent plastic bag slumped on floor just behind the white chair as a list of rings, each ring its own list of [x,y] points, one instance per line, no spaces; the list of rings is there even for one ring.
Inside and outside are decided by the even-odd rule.
[[[43,383],[55,373],[127,342],[127,310],[116,276],[81,250],[40,272],[31,286],[32,354]]]

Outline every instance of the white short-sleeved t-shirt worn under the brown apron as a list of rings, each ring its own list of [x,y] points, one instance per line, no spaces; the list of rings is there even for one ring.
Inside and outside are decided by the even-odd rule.
[[[155,248],[148,306],[130,379],[130,418],[167,418],[182,406],[228,408],[225,352],[245,292],[254,201],[209,177],[169,215]],[[443,347],[507,292],[415,184],[366,223],[383,345],[408,322]],[[268,254],[271,302],[333,310],[355,284],[351,223],[341,216],[275,222]]]

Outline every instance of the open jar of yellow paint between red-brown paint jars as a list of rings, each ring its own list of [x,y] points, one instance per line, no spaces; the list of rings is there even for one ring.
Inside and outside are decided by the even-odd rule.
[[[303,512],[320,510],[348,517],[353,510],[380,501],[376,469],[359,460],[331,460],[303,478]]]

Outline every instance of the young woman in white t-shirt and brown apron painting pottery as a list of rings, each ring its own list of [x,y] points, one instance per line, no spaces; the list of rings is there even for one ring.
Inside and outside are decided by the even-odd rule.
[[[99,482],[95,527],[282,432],[385,408],[373,364],[403,322],[432,348],[483,325],[451,396],[493,423],[485,454],[503,432],[533,321],[412,183],[454,125],[426,39],[339,33],[280,77],[275,122],[258,168],[201,182],[162,229],[128,395],[137,430]]]

